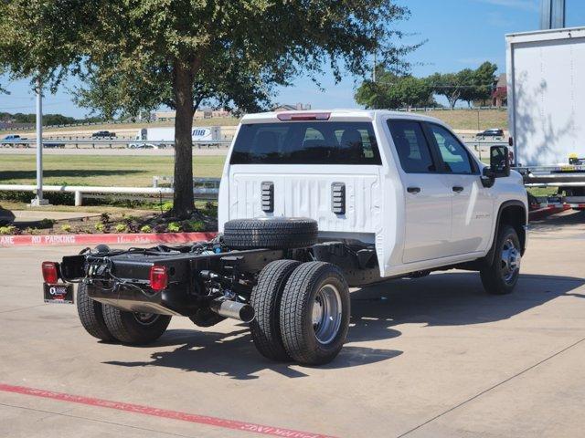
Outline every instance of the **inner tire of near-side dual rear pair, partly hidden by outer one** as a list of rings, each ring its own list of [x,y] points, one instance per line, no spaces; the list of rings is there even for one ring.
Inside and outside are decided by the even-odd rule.
[[[291,360],[282,345],[281,298],[286,281],[299,265],[294,260],[269,263],[261,270],[258,284],[252,289],[250,305],[256,313],[250,323],[252,340],[261,355],[271,360]]]

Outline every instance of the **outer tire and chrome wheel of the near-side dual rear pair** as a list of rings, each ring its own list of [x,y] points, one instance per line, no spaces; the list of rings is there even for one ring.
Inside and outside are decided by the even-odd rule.
[[[284,349],[304,365],[334,360],[346,340],[349,315],[349,288],[341,270],[330,263],[303,263],[293,271],[282,292]]]

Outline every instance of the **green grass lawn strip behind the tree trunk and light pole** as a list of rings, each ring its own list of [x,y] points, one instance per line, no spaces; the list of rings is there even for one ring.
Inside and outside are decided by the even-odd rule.
[[[195,155],[193,174],[220,177],[224,156]],[[172,156],[45,155],[44,183],[98,186],[152,186],[153,176],[173,175]],[[0,156],[0,183],[33,184],[35,155]]]

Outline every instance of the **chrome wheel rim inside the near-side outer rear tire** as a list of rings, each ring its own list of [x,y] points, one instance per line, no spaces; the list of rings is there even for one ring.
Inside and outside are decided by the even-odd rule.
[[[341,326],[342,304],[339,290],[331,284],[321,287],[314,297],[312,319],[314,335],[322,344],[328,344]]]

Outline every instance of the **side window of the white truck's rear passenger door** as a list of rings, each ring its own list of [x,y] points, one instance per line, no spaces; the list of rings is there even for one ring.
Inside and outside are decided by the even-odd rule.
[[[432,159],[431,148],[420,122],[388,120],[388,127],[404,172],[436,172],[437,168]]]

